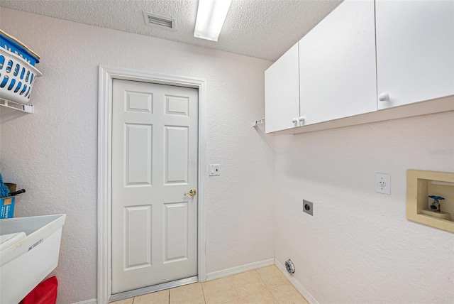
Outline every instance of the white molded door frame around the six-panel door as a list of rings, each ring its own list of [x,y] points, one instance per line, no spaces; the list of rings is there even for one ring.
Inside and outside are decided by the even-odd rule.
[[[197,208],[197,276],[199,282],[206,281],[205,256],[205,102],[206,80],[165,75],[123,67],[99,65],[98,69],[98,259],[97,259],[97,302],[109,303],[111,298],[111,122],[112,82],[114,79],[150,82],[159,85],[191,87],[199,91],[199,145],[198,145],[198,208]]]

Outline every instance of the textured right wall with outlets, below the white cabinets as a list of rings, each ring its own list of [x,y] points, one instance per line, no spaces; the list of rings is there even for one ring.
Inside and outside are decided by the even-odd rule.
[[[319,303],[454,303],[454,235],[405,215],[407,169],[454,172],[454,112],[275,145],[276,256]],[[375,173],[391,175],[391,195],[375,192]]]

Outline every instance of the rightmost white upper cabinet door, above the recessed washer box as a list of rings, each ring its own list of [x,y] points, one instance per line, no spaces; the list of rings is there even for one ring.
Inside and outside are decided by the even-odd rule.
[[[378,108],[454,94],[454,1],[377,1]]]

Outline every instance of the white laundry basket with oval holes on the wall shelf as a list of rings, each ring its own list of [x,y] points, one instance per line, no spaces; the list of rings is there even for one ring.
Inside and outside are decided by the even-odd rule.
[[[20,56],[0,48],[0,98],[28,104],[36,77],[43,74]]]

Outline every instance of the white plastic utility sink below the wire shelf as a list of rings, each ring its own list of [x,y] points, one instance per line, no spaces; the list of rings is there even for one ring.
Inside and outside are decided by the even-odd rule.
[[[0,219],[0,303],[19,303],[57,267],[65,219]]]

